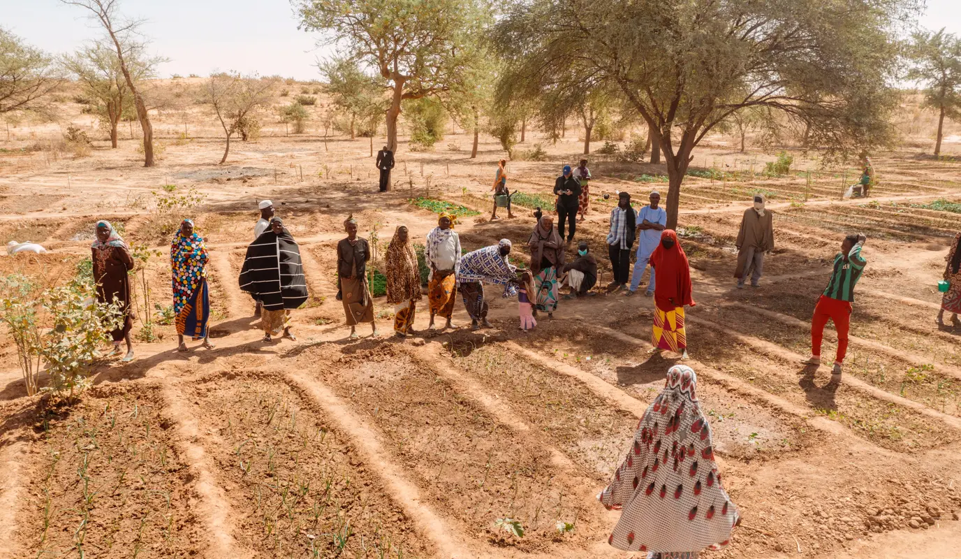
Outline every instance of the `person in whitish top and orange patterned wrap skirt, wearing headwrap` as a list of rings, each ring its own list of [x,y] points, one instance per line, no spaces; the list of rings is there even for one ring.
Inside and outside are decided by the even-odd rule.
[[[437,218],[437,226],[427,234],[424,259],[427,267],[431,268],[427,284],[427,298],[431,307],[431,323],[428,328],[431,330],[435,315],[447,319],[444,328],[455,327],[451,318],[454,317],[457,270],[460,267],[460,237],[454,230],[455,223],[455,216],[441,214]]]

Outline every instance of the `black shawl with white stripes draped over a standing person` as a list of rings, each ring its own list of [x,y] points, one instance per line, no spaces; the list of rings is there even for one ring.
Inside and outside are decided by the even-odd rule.
[[[307,281],[300,246],[284,229],[267,229],[247,247],[240,289],[254,295],[268,311],[296,309],[307,301]]]

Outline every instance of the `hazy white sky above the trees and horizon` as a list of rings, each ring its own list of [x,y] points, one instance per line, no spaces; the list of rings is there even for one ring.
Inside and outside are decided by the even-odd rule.
[[[318,78],[314,34],[297,30],[288,0],[122,0],[123,13],[145,18],[153,50],[170,62],[160,74],[213,70]],[[82,9],[60,0],[0,0],[0,25],[53,53],[72,51],[100,31]],[[927,0],[921,24],[961,35],[961,0]]]

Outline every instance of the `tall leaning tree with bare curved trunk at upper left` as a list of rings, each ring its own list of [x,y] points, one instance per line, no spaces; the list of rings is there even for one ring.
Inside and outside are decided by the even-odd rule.
[[[136,119],[143,131],[143,166],[154,166],[154,127],[143,101],[143,95],[135,84],[135,72],[129,64],[134,52],[142,52],[145,43],[136,39],[140,21],[123,18],[118,12],[119,0],[61,0],[62,3],[79,6],[90,13],[90,18],[103,25],[117,52],[117,63],[124,81],[134,96]]]

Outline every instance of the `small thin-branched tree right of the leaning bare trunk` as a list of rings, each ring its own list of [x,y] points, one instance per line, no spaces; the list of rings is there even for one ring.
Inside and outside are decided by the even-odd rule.
[[[201,100],[213,108],[213,113],[227,137],[220,165],[227,161],[231,152],[231,137],[240,132],[241,128],[249,126],[259,109],[269,105],[276,85],[275,79],[241,76],[239,72],[222,72],[210,76]]]

